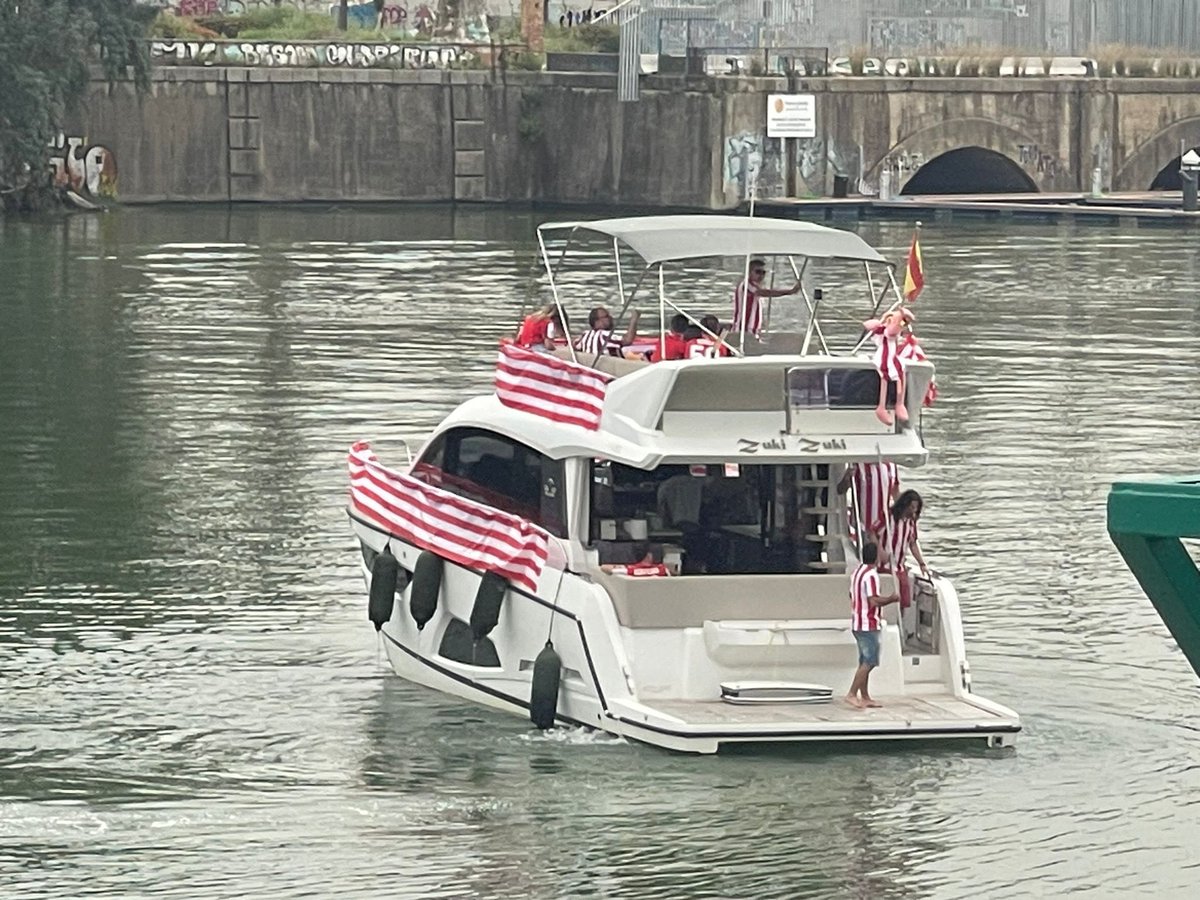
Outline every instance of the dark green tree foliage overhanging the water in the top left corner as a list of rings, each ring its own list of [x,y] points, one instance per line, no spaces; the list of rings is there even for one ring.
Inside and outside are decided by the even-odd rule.
[[[89,65],[149,85],[142,42],[156,11],[133,0],[0,0],[0,203],[31,209],[53,194],[50,142],[88,90]]]

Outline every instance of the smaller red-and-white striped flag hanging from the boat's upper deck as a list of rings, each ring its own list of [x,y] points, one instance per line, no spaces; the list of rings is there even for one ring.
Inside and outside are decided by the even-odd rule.
[[[611,380],[589,366],[511,343],[500,344],[496,364],[496,396],[504,406],[589,431],[600,427]]]

